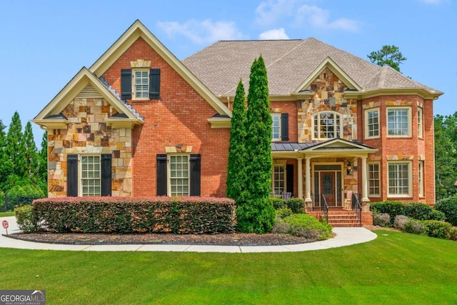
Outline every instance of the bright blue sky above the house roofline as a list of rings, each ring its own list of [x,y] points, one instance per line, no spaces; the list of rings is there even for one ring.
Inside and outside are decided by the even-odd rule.
[[[0,119],[22,124],[91,66],[136,19],[178,59],[218,40],[314,37],[366,59],[398,46],[401,71],[443,91],[457,111],[457,9],[452,0],[0,1]],[[34,125],[36,141],[43,131]]]

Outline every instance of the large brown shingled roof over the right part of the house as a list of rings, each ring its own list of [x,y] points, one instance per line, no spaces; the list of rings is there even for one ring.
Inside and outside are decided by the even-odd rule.
[[[313,38],[217,41],[184,59],[183,63],[216,96],[234,96],[240,79],[248,90],[251,65],[260,55],[268,71],[271,96],[287,96],[301,89],[323,64],[330,64],[329,69],[337,75],[339,71],[346,76],[346,81],[350,81],[345,84],[354,89],[358,86],[360,92],[407,89],[423,92],[430,98],[443,94],[403,76],[390,66],[377,66]]]

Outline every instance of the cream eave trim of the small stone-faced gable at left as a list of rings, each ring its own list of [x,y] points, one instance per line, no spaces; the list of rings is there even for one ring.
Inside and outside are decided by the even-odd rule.
[[[83,67],[32,121],[40,126],[64,128],[64,124],[69,124],[69,121],[61,115],[61,111],[63,111],[89,84],[91,85],[91,88],[101,94],[116,111],[120,114],[124,114],[123,117],[111,118],[107,121],[113,121],[116,122],[116,124],[122,122],[124,125],[127,124],[131,126],[144,124],[143,119],[132,109],[129,109],[129,105],[124,104],[119,96],[116,96],[113,91],[105,86],[100,79],[97,79],[86,67]]]

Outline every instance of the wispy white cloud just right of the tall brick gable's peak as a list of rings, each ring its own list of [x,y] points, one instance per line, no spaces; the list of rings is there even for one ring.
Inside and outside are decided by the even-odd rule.
[[[195,44],[211,44],[218,40],[247,39],[241,31],[236,29],[231,21],[204,21],[189,20],[185,23],[159,22],[157,24],[168,36],[186,36]]]

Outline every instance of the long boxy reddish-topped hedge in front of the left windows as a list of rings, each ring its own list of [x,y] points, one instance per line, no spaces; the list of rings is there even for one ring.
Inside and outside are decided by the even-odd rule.
[[[201,197],[59,197],[34,201],[57,232],[218,234],[235,231],[235,201]]]

